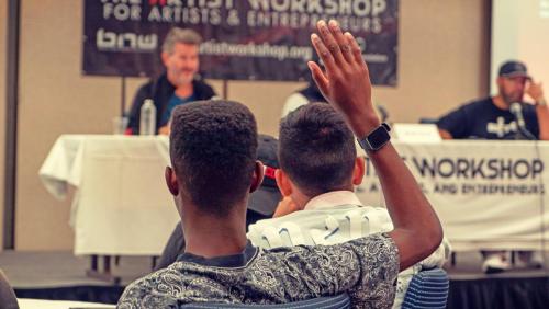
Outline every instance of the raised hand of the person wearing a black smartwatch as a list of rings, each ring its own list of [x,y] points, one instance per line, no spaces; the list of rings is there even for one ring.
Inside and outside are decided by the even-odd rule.
[[[359,138],[380,125],[371,101],[368,66],[350,33],[343,34],[336,21],[316,24],[320,36],[311,35],[316,53],[326,67],[323,72],[317,64],[309,61],[316,85],[328,102],[343,114]]]

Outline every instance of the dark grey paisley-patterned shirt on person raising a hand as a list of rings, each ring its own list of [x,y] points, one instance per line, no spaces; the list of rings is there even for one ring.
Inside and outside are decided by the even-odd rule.
[[[204,259],[183,254],[126,287],[119,308],[189,302],[283,304],[348,293],[354,308],[391,308],[399,251],[385,233],[335,245],[261,250]]]

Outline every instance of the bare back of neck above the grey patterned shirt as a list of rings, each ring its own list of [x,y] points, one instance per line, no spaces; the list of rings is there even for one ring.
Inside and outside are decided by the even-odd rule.
[[[215,258],[244,251],[247,242],[245,211],[242,215],[240,211],[233,211],[226,217],[215,217],[187,210],[189,208],[182,218],[186,253]]]

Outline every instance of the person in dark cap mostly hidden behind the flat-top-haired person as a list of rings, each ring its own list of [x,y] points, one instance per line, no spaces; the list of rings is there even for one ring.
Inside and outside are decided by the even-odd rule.
[[[258,135],[257,160],[264,163],[265,176],[261,185],[250,194],[246,213],[246,227],[261,219],[272,217],[282,195],[274,180],[274,171],[279,168],[277,152],[278,140],[270,135]],[[163,250],[155,270],[161,270],[176,262],[179,254],[184,252],[184,238],[181,225],[178,222]]]

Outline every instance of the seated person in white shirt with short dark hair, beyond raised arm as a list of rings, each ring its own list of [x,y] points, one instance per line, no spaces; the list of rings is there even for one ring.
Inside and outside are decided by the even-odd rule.
[[[385,208],[363,206],[355,195],[365,158],[357,157],[352,133],[332,106],[311,103],[290,113],[280,124],[279,137],[277,182],[284,202],[277,208],[278,218],[249,227],[254,245],[334,244],[393,229]],[[441,267],[448,255],[446,242],[401,272],[393,308],[400,308],[413,275]]]

